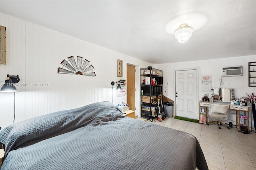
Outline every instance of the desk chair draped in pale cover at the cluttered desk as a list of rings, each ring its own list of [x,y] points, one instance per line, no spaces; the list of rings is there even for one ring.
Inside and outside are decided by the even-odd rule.
[[[220,125],[224,125],[227,128],[230,128],[228,125],[221,122],[226,121],[228,119],[229,105],[210,105],[209,115],[210,122],[208,122],[207,125],[209,125],[210,123],[217,123],[219,129],[221,129]]]

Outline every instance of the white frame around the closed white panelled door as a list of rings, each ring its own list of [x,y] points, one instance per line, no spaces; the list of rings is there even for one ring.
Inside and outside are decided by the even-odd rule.
[[[174,113],[175,115],[177,115],[177,109],[178,108],[176,105],[177,105],[177,102],[176,102],[176,71],[188,71],[188,70],[196,70],[196,81],[198,83],[198,85],[196,86],[196,101],[197,103],[199,103],[199,100],[198,100],[198,89],[199,89],[199,69],[198,67],[193,67],[193,68],[184,68],[184,69],[174,69],[174,91],[173,91],[173,94],[174,94],[174,103],[175,103],[175,107],[174,107]],[[198,105],[196,105],[196,110],[198,111]],[[197,114],[196,116],[196,119],[199,120],[199,114]]]

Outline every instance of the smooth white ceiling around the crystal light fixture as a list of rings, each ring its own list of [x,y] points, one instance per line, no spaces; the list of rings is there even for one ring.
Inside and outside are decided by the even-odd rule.
[[[153,64],[256,55],[256,0],[0,0],[0,12]]]

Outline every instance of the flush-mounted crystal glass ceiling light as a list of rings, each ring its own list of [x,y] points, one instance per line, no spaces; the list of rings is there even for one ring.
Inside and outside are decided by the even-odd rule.
[[[192,36],[193,28],[188,26],[188,24],[181,24],[179,28],[174,31],[175,38],[180,43],[187,42]]]

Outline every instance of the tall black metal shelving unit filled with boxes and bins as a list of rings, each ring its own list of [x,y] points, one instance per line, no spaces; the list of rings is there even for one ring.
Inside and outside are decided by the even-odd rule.
[[[156,113],[156,107],[154,105],[154,102],[157,102],[157,99],[162,98],[162,75],[162,70],[155,69],[152,67],[140,69],[140,91],[143,90],[143,95],[141,95],[141,117],[144,119],[156,117],[156,115],[152,115],[152,109],[155,109],[154,113]],[[148,79],[149,82],[147,81]],[[156,80],[156,85],[152,84],[152,79]],[[145,80],[145,82],[143,80]],[[149,97],[149,103],[143,102],[143,97]],[[154,98],[153,103],[151,102],[152,98]]]

